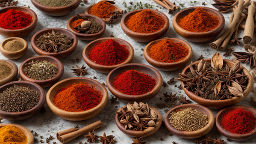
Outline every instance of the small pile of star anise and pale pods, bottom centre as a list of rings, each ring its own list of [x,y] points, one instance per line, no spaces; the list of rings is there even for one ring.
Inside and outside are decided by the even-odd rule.
[[[125,129],[142,131],[148,127],[154,127],[158,119],[158,115],[154,109],[140,102],[134,104],[127,104],[127,107],[121,108],[116,112],[119,116],[120,122],[125,126]]]

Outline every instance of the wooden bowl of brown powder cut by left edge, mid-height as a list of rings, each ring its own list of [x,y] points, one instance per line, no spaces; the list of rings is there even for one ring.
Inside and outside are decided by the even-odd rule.
[[[0,59],[0,61],[6,62],[6,64],[13,69],[10,76],[0,80],[0,86],[2,86],[5,83],[11,82],[16,79],[16,76],[18,74],[18,68],[17,68],[17,65],[12,61],[4,60],[4,59]]]

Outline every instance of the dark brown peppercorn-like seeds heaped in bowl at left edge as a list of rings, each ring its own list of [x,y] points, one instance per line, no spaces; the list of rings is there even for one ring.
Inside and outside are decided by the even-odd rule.
[[[0,109],[5,112],[23,112],[37,106],[39,100],[37,91],[13,85],[0,94]]]

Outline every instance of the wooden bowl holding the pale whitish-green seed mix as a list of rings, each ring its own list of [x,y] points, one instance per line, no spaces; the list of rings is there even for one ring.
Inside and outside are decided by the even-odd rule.
[[[35,80],[35,79],[31,79],[30,77],[28,77],[24,71],[25,64],[28,62],[31,62],[31,61],[44,61],[44,60],[52,62],[53,64],[58,66],[57,75],[55,77],[52,77],[51,79],[47,79],[47,80]],[[23,61],[19,67],[19,74],[23,80],[37,83],[38,85],[42,86],[43,88],[54,85],[54,83],[56,83],[56,82],[58,82],[58,80],[60,80],[60,78],[63,76],[63,73],[64,73],[64,67],[63,67],[63,64],[61,63],[61,61],[58,60],[57,58],[54,58],[53,56],[47,56],[47,55],[34,56],[32,58],[28,58],[25,61]]]

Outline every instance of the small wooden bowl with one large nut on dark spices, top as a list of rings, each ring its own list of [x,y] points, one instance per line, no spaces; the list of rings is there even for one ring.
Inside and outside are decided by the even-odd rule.
[[[103,28],[101,29],[101,31],[99,31],[96,34],[83,34],[83,33],[77,32],[73,30],[72,23],[78,18],[77,16],[73,16],[67,22],[67,29],[69,29],[69,31],[72,31],[76,35],[76,37],[78,37],[81,40],[91,41],[91,40],[96,40],[100,38],[102,35],[104,35],[106,31],[106,23],[101,18],[93,16],[91,14],[80,14],[80,16],[86,16],[88,19],[95,19],[95,21],[98,22],[100,25],[102,25]]]

